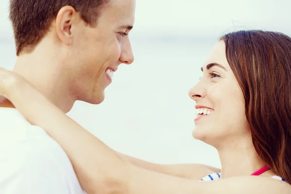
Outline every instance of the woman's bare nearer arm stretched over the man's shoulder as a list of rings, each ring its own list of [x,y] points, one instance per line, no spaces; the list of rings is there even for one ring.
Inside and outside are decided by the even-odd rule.
[[[17,74],[0,69],[0,94],[64,148],[81,186],[89,194],[291,193],[290,185],[272,178],[199,182],[141,169],[124,162],[115,151],[67,117]]]

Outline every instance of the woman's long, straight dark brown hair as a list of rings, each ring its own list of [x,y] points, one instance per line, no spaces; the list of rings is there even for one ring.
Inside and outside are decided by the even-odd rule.
[[[220,39],[242,88],[255,149],[276,175],[291,183],[291,38],[251,30]]]

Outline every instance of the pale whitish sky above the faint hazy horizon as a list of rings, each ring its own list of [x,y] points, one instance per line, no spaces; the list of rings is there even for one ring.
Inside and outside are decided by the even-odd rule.
[[[136,0],[139,34],[217,34],[233,27],[291,33],[290,0]],[[10,35],[8,0],[0,1],[0,32]],[[135,33],[133,32],[133,33]]]

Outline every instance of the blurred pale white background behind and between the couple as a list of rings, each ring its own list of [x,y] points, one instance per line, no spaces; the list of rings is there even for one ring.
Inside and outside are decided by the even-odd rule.
[[[0,1],[0,66],[12,69],[16,54],[8,4]],[[137,0],[130,32],[135,62],[121,65],[102,104],[77,102],[68,115],[123,153],[151,162],[220,167],[216,150],[192,137],[195,104],[188,90],[224,32],[291,35],[290,6],[290,0]]]

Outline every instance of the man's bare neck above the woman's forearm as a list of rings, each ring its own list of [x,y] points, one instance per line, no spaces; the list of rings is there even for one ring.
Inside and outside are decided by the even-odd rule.
[[[61,71],[61,63],[53,53],[44,53],[39,49],[31,54],[19,56],[13,71],[23,76],[53,104],[67,113],[76,99],[70,94],[67,75]]]

